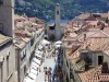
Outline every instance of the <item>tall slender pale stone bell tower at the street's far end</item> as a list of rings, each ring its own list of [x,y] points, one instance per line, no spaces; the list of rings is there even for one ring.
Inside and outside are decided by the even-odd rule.
[[[55,38],[56,40],[61,39],[61,27],[60,27],[60,4],[56,4],[56,27],[55,27]]]

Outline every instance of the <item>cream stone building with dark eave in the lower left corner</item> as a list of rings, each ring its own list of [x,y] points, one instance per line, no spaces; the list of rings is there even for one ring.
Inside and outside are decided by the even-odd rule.
[[[0,82],[17,82],[15,74],[15,49],[12,38],[0,34]]]

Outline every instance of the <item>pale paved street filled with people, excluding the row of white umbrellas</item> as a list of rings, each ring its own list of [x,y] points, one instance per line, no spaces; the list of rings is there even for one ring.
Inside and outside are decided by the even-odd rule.
[[[35,55],[38,54],[40,46],[41,44],[39,44],[39,46],[36,48],[37,52],[35,50]],[[62,79],[61,65],[60,65],[61,63],[60,48],[56,48],[55,45],[50,43],[50,45],[44,46],[40,51],[43,52],[43,58],[38,67],[38,73],[35,75],[36,79],[34,79],[33,78],[34,75],[31,75],[31,74],[28,74],[28,77],[34,79],[35,82],[62,82],[61,81]],[[33,58],[33,60],[34,59],[35,57]],[[36,60],[37,60],[37,57],[36,57]],[[39,61],[36,61],[36,62],[38,63]],[[36,66],[36,65],[33,61],[33,66]]]

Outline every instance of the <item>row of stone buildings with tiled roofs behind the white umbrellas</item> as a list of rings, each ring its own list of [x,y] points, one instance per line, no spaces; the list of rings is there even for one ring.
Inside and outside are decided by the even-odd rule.
[[[31,67],[34,51],[44,38],[44,24],[36,24],[26,16],[15,16],[15,56],[19,82],[23,82]]]

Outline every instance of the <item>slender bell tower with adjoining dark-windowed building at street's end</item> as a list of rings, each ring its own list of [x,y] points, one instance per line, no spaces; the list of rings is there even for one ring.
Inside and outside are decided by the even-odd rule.
[[[60,40],[62,37],[62,31],[64,28],[60,26],[60,4],[57,3],[55,10],[55,24],[48,25],[47,27],[47,35],[49,39]]]

